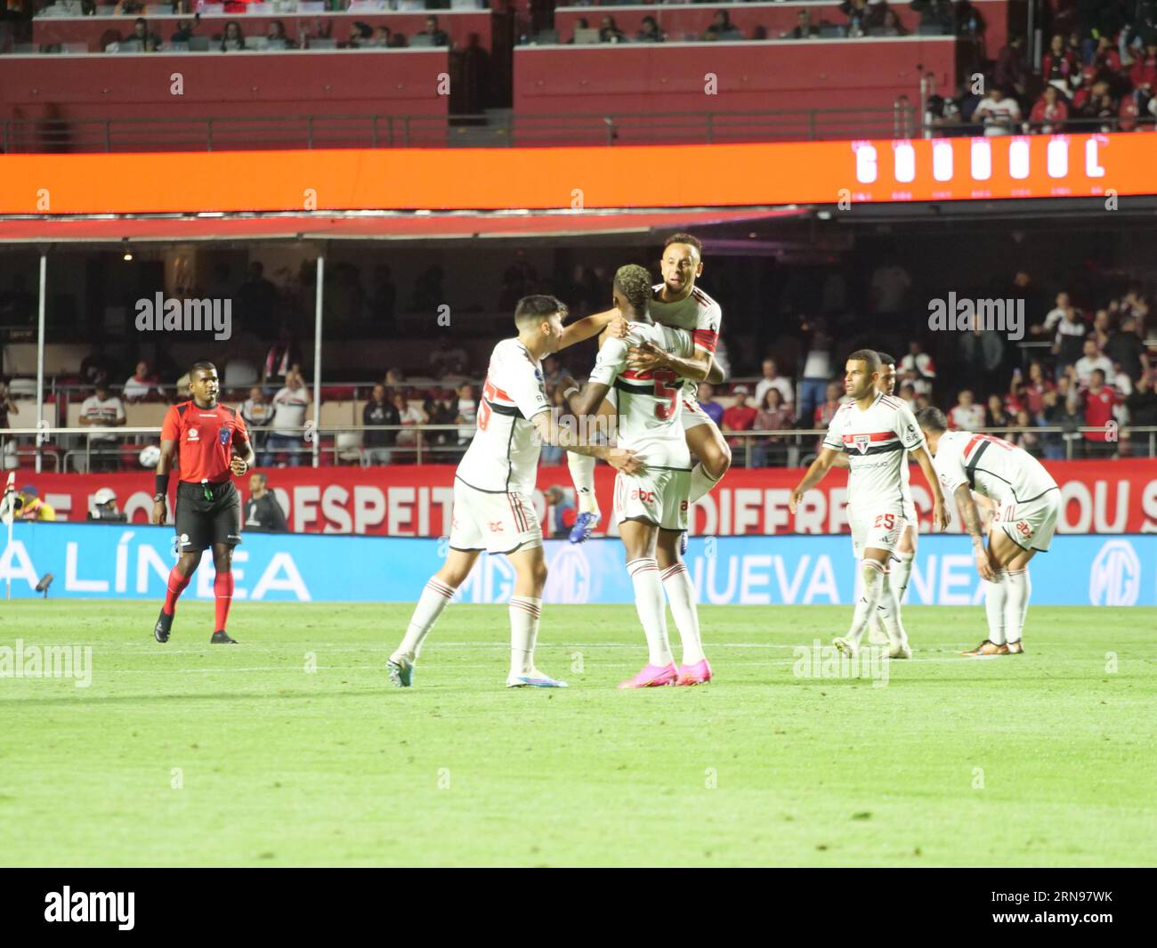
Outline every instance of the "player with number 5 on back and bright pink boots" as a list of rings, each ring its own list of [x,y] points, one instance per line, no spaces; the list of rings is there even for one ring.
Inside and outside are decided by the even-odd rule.
[[[684,381],[673,372],[628,366],[632,346],[648,344],[686,359],[693,343],[688,332],[651,322],[647,311],[650,274],[644,267],[620,267],[613,292],[627,335],[603,343],[590,381],[581,391],[570,379],[559,384],[576,417],[597,411],[613,385],[618,394],[619,447],[633,450],[643,464],[638,472],[620,470],[614,482],[614,516],[649,651],[642,671],[619,688],[703,684],[712,678],[712,667],[700,641],[694,585],[679,556],[679,538],[687,528],[691,480],[691,454],[679,417]],[[666,637],[664,590],[683,640],[679,668]]]

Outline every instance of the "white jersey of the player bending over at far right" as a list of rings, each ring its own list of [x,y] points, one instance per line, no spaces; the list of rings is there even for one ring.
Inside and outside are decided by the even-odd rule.
[[[1036,457],[1002,438],[972,432],[944,432],[933,458],[936,475],[951,494],[961,484],[997,504],[1025,504],[1056,490],[1056,482]]]

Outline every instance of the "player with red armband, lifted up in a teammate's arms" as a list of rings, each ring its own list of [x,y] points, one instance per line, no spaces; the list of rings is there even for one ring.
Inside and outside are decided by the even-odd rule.
[[[685,380],[680,389],[680,425],[686,444],[699,463],[691,471],[690,501],[694,504],[712,491],[731,466],[731,449],[710,417],[695,399],[698,383],[707,379],[718,343],[722,310],[710,296],[695,286],[703,272],[703,247],[691,234],[672,234],[663,244],[659,269],[663,282],[650,287],[648,311],[661,325],[685,330],[693,346],[687,353],[664,352],[653,340],[642,340],[631,348],[628,367],[636,372],[673,372]],[[607,324],[620,338],[627,335],[626,323],[616,318],[618,310],[588,317],[588,326],[574,341],[588,338]],[[576,324],[575,329],[578,329]],[[569,344],[568,339],[568,344]],[[572,543],[590,536],[599,522],[598,500],[595,497],[595,460],[589,455],[568,456],[570,476],[578,499],[578,516],[570,531]]]

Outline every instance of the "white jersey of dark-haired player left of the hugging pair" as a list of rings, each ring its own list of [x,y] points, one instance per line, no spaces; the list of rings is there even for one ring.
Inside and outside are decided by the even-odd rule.
[[[530,419],[548,409],[541,365],[517,339],[503,339],[491,353],[458,479],[487,493],[533,491],[543,444]]]

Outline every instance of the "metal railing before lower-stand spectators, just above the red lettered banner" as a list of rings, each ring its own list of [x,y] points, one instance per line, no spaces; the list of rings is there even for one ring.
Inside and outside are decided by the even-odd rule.
[[[392,433],[392,444],[364,444],[366,432]],[[977,428],[978,433],[994,434],[1000,438],[1016,439],[1029,434],[1037,438],[1037,449],[1031,454],[1044,460],[1073,461],[1084,456],[1091,457],[1150,457],[1157,458],[1157,426],[1125,425],[1117,427],[1067,427],[1047,425],[1040,427],[1000,427]],[[65,473],[93,470],[93,461],[111,462],[119,468],[126,451],[143,448],[146,443],[155,443],[161,433],[155,427],[118,427],[118,428],[9,428],[0,431],[0,468],[15,457],[34,457],[37,453],[43,458],[52,458],[57,471]],[[458,425],[348,425],[322,426],[308,425],[297,428],[259,428],[251,432],[253,449],[258,457],[258,468],[273,466],[281,463],[290,466],[318,466],[322,454],[332,455],[332,464],[435,464],[457,462],[465,453],[474,433],[474,424]],[[268,435],[283,434],[296,438],[297,443],[270,443]],[[732,463],[744,468],[779,468],[801,466],[818,454],[819,440],[826,434],[824,428],[775,429],[775,431],[724,431],[732,444]],[[1085,434],[1099,435],[1098,440],[1084,438]],[[115,447],[104,447],[94,439],[113,436],[118,439]],[[348,438],[342,439],[341,435]],[[120,439],[135,438],[139,443],[120,443]],[[149,439],[145,441],[142,439]],[[397,443],[403,438],[404,443]],[[54,443],[53,439],[62,439]],[[83,439],[83,444],[72,441]],[[411,440],[412,439],[412,440]],[[39,443],[35,443],[39,440]],[[14,443],[15,442],[15,443]],[[327,442],[324,443],[323,442]],[[14,444],[14,447],[9,447]],[[281,458],[285,458],[285,462]],[[752,463],[756,462],[756,463]],[[775,462],[775,463],[768,463]],[[142,469],[143,470],[143,469]]]

